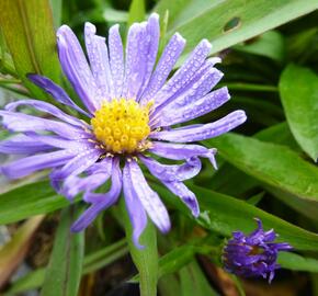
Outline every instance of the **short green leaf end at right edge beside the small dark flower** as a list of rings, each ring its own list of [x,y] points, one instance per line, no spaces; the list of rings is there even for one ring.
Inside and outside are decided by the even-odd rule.
[[[318,260],[291,252],[280,252],[277,263],[293,271],[318,272]]]

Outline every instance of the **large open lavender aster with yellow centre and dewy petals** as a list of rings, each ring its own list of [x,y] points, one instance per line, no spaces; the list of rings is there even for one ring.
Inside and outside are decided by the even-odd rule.
[[[183,181],[200,172],[202,157],[216,167],[216,149],[191,143],[216,137],[246,121],[243,111],[235,111],[214,123],[171,127],[217,109],[230,96],[227,88],[212,91],[223,73],[214,67],[220,59],[208,58],[211,44],[206,39],[168,79],[185,41],[175,33],[156,64],[159,35],[159,16],[151,14],[147,22],[130,26],[124,54],[118,25],[110,29],[105,43],[95,34],[94,25],[87,23],[88,62],[73,32],[63,25],[57,32],[60,65],[83,107],[49,79],[38,75],[29,78],[57,102],[81,113],[83,119],[36,100],[14,102],[0,111],[3,126],[16,133],[1,143],[0,151],[26,155],[2,166],[2,173],[19,179],[52,169],[52,184],[58,193],[70,201],[82,193],[90,206],[72,231],[81,231],[101,210],[115,204],[123,189],[135,244],[140,247],[138,238],[147,216],[167,232],[168,212],[148,185],[140,163],[197,217],[195,195]],[[24,114],[18,111],[20,106],[49,116]],[[183,163],[163,164],[151,155]],[[110,191],[101,192],[109,180]]]

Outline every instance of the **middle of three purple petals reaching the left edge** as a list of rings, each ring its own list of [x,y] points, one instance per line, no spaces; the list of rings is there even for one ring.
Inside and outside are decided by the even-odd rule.
[[[5,155],[33,155],[46,150],[52,150],[52,147],[25,135],[18,135],[8,140],[0,141],[0,152]]]

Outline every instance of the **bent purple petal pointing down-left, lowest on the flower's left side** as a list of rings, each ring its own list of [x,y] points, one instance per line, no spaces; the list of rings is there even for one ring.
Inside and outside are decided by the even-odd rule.
[[[114,203],[116,203],[121,191],[122,191],[122,172],[120,168],[120,162],[114,161],[113,174],[112,174],[112,186],[111,190],[101,194],[95,202],[75,221],[71,226],[72,232],[78,232],[87,228],[96,216]]]

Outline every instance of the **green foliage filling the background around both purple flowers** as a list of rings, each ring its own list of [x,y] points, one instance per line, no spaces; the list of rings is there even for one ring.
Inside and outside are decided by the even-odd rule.
[[[242,109],[235,134],[205,141],[218,149],[217,171],[204,163],[188,182],[202,214],[154,178],[169,206],[172,231],[151,224],[138,251],[123,205],[101,215],[86,234],[69,235],[82,204],[69,205],[49,186],[47,172],[16,182],[0,179],[0,287],[4,295],[318,295],[318,2],[316,0],[1,0],[0,104],[53,99],[31,84],[37,72],[64,84],[54,31],[68,24],[82,42],[83,24],[98,33],[160,14],[161,44],[180,32],[186,54],[209,39],[231,101],[195,122]],[[179,65],[180,65],[179,64]],[[220,87],[219,86],[219,87]],[[178,112],[178,111],[177,111]],[[0,138],[9,135],[0,130]],[[0,156],[1,161],[7,161]],[[78,198],[77,201],[79,201]],[[60,210],[63,208],[63,210]],[[222,270],[222,247],[234,230],[251,231],[254,217],[274,228],[295,252],[280,257],[275,281],[237,278]],[[129,255],[130,253],[130,255]],[[133,263],[134,262],[134,263]]]

